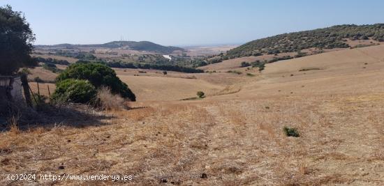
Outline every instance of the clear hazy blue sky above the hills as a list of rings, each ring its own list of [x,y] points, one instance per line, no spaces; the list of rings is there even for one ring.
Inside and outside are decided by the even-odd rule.
[[[384,22],[384,1],[0,0],[25,13],[36,44],[149,40],[161,45],[244,43],[335,24]]]

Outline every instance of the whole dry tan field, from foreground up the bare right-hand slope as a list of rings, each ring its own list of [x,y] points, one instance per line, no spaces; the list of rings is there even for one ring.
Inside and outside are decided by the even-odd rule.
[[[384,185],[383,72],[383,45],[270,63],[255,77],[117,71],[138,96],[131,109],[14,123],[0,133],[0,175],[133,176],[31,185]],[[200,90],[207,98],[179,100]]]

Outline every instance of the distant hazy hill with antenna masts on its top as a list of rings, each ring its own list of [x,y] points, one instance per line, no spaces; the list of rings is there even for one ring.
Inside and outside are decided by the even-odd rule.
[[[104,44],[95,44],[95,45],[71,45],[71,44],[59,44],[59,45],[36,45],[35,47],[65,47],[65,48],[78,48],[78,47],[105,47],[105,48],[124,48],[124,49],[133,49],[138,51],[147,51],[147,52],[157,52],[161,54],[169,54],[175,50],[184,51],[180,47],[165,47],[163,45],[158,45],[154,42],[149,41],[112,41]]]

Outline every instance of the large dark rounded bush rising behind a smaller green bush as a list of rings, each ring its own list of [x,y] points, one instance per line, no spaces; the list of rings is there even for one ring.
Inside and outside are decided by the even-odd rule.
[[[116,76],[116,72],[101,63],[75,63],[70,65],[57,77],[57,82],[65,79],[88,80],[96,88],[107,86],[112,93],[118,93],[122,98],[128,98],[131,101],[136,100],[135,94],[128,88],[128,85],[121,82],[119,77]]]

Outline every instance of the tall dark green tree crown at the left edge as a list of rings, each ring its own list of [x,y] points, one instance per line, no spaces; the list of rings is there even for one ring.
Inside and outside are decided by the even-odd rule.
[[[31,59],[35,36],[21,12],[0,6],[0,75],[13,75],[20,67],[36,65]]]

